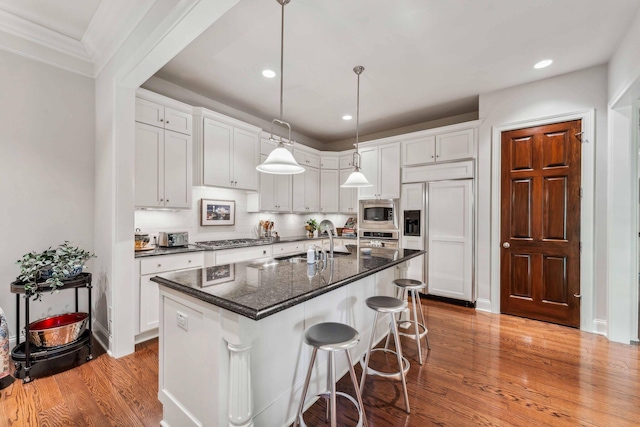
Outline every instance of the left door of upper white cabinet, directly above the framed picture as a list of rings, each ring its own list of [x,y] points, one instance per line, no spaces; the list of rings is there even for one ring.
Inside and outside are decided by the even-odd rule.
[[[231,159],[233,128],[204,119],[204,185],[231,187]]]

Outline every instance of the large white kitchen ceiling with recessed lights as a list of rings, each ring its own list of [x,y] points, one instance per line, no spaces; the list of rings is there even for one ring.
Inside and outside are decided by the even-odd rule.
[[[481,93],[606,63],[638,0],[292,0],[284,119],[319,141],[477,111]],[[156,75],[247,113],[278,117],[280,12],[241,0]],[[551,58],[543,70],[533,64]]]

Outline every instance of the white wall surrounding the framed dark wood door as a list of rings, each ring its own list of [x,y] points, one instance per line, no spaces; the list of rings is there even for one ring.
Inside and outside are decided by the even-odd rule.
[[[478,223],[490,224],[492,170],[492,128],[587,109],[596,110],[595,144],[595,307],[594,321],[607,317],[607,68],[605,65],[564,74],[534,83],[480,95],[478,150]],[[491,229],[478,230],[478,297],[485,302],[499,301],[491,294]],[[589,268],[589,266],[582,266]],[[588,329],[591,329],[589,325]]]

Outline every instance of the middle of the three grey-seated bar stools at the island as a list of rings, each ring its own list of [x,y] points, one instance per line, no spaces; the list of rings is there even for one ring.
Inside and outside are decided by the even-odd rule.
[[[360,364],[362,365],[362,377],[360,379],[360,394],[362,394],[364,390],[364,382],[367,378],[367,375],[378,375],[384,378],[391,378],[395,380],[402,381],[402,390],[404,391],[404,403],[407,407],[407,414],[410,413],[409,409],[409,393],[407,392],[407,381],[406,375],[409,371],[409,361],[402,357],[402,347],[400,346],[400,337],[398,335],[398,323],[396,322],[396,313],[401,313],[407,308],[407,303],[403,300],[393,297],[387,296],[375,296],[367,298],[365,301],[367,307],[375,311],[375,316],[373,317],[373,326],[371,328],[371,338],[369,338],[369,347],[367,349],[367,353],[364,356],[364,364],[362,359],[360,360]],[[378,322],[378,314],[389,314],[391,317],[391,323],[389,325],[391,329],[391,333],[393,333],[395,343],[396,343],[396,351],[389,350],[386,346],[385,348],[373,348],[373,340],[376,333],[376,324]],[[382,351],[385,353],[395,354],[398,358],[398,372],[380,372],[375,369],[369,367],[369,359],[371,357],[371,353],[376,351]]]

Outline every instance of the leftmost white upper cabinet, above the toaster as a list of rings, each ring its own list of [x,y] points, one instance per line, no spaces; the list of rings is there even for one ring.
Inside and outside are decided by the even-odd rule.
[[[142,93],[166,103],[175,103],[185,110],[191,108],[148,91]],[[169,123],[167,117],[171,118]],[[174,120],[173,117],[179,119]],[[191,115],[157,102],[136,98],[136,119],[144,122],[136,122],[135,206],[190,209]],[[168,125],[175,125],[179,130],[170,130]]]

